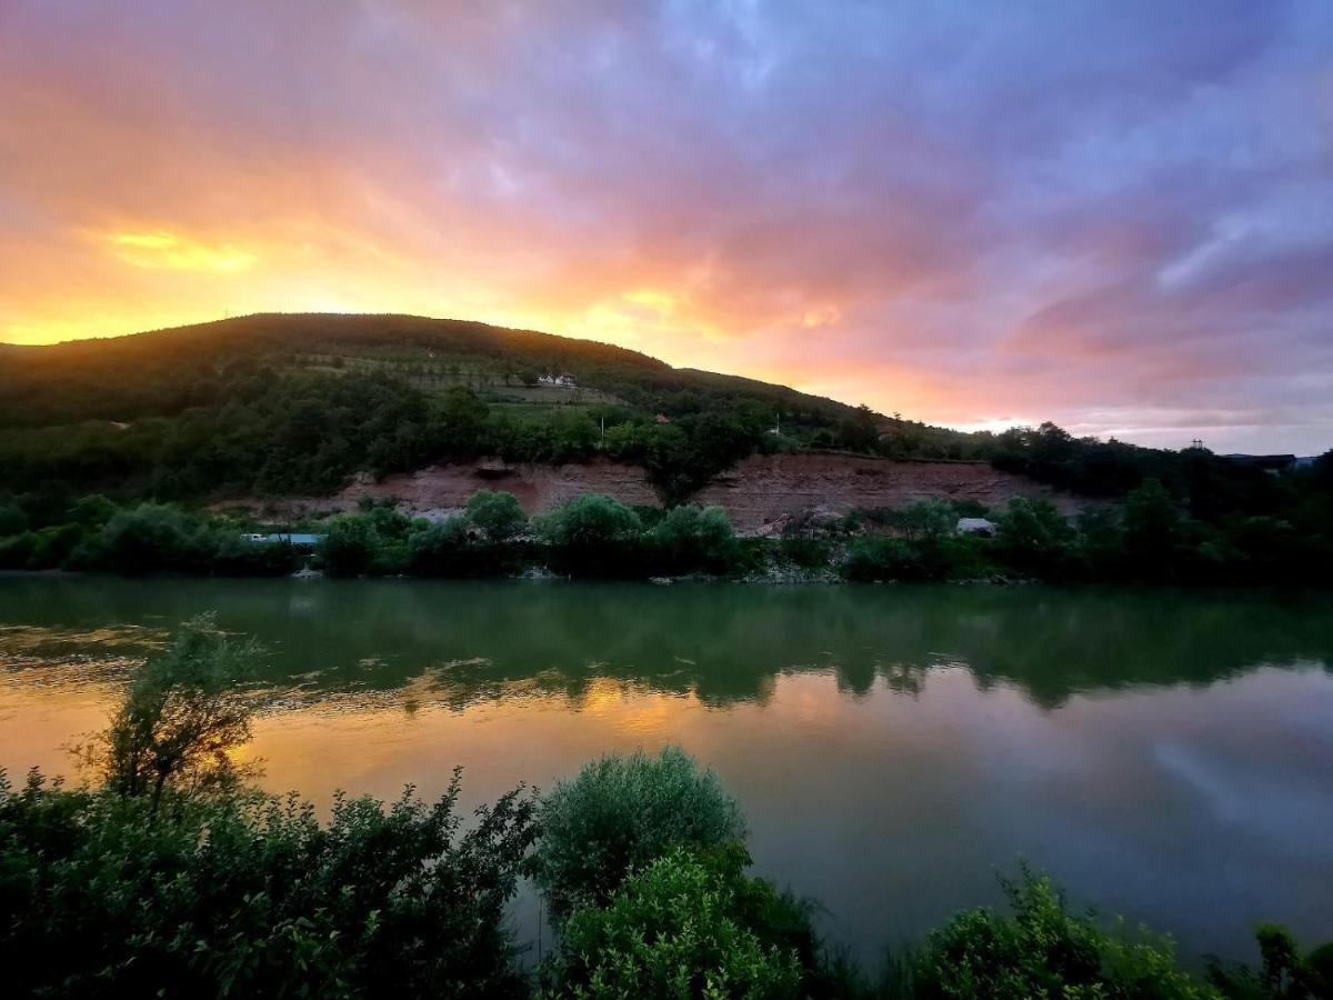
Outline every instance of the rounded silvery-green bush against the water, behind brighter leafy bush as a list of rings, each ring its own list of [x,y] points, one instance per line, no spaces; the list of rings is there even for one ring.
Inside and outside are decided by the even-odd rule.
[[[537,880],[557,919],[605,903],[632,869],[677,844],[706,848],[745,836],[717,775],[701,772],[678,747],[585,765],[545,796],[541,829]]]

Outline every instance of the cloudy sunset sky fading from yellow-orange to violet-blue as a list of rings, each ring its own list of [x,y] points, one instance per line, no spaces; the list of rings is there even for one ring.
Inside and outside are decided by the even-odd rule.
[[[1333,447],[1333,0],[0,0],[0,340],[605,340]]]

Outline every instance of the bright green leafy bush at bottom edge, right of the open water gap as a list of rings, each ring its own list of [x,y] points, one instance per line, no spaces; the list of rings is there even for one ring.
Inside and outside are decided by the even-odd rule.
[[[1012,916],[990,909],[956,915],[916,956],[913,996],[921,1000],[1066,1000],[1216,996],[1176,965],[1169,939],[1114,933],[1070,915],[1050,880],[1024,868],[1005,881]]]

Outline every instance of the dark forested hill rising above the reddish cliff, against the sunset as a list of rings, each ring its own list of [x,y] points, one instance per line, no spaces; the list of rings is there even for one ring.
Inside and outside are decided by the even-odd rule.
[[[786,387],[459,320],[257,315],[0,361],[0,492],[312,493],[448,457],[604,455],[682,497],[757,449],[808,447],[981,455],[972,436]]]

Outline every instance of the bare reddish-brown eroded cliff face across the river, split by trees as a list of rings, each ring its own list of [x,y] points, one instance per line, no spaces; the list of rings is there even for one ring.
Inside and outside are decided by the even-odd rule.
[[[632,505],[661,505],[639,465],[604,459],[572,465],[483,459],[428,465],[379,481],[363,476],[336,496],[285,500],[273,507],[288,515],[349,511],[361,497],[385,497],[396,500],[407,513],[440,516],[463,507],[479,489],[507,489],[529,515],[583,493],[605,493]],[[1065,513],[1089,503],[986,463],[816,453],[754,455],[713,479],[694,500],[718,504],[737,531],[756,533],[776,531],[805,511],[844,515],[856,507],[897,508],[921,499],[976,500],[1001,508],[1013,497],[1046,499]]]

